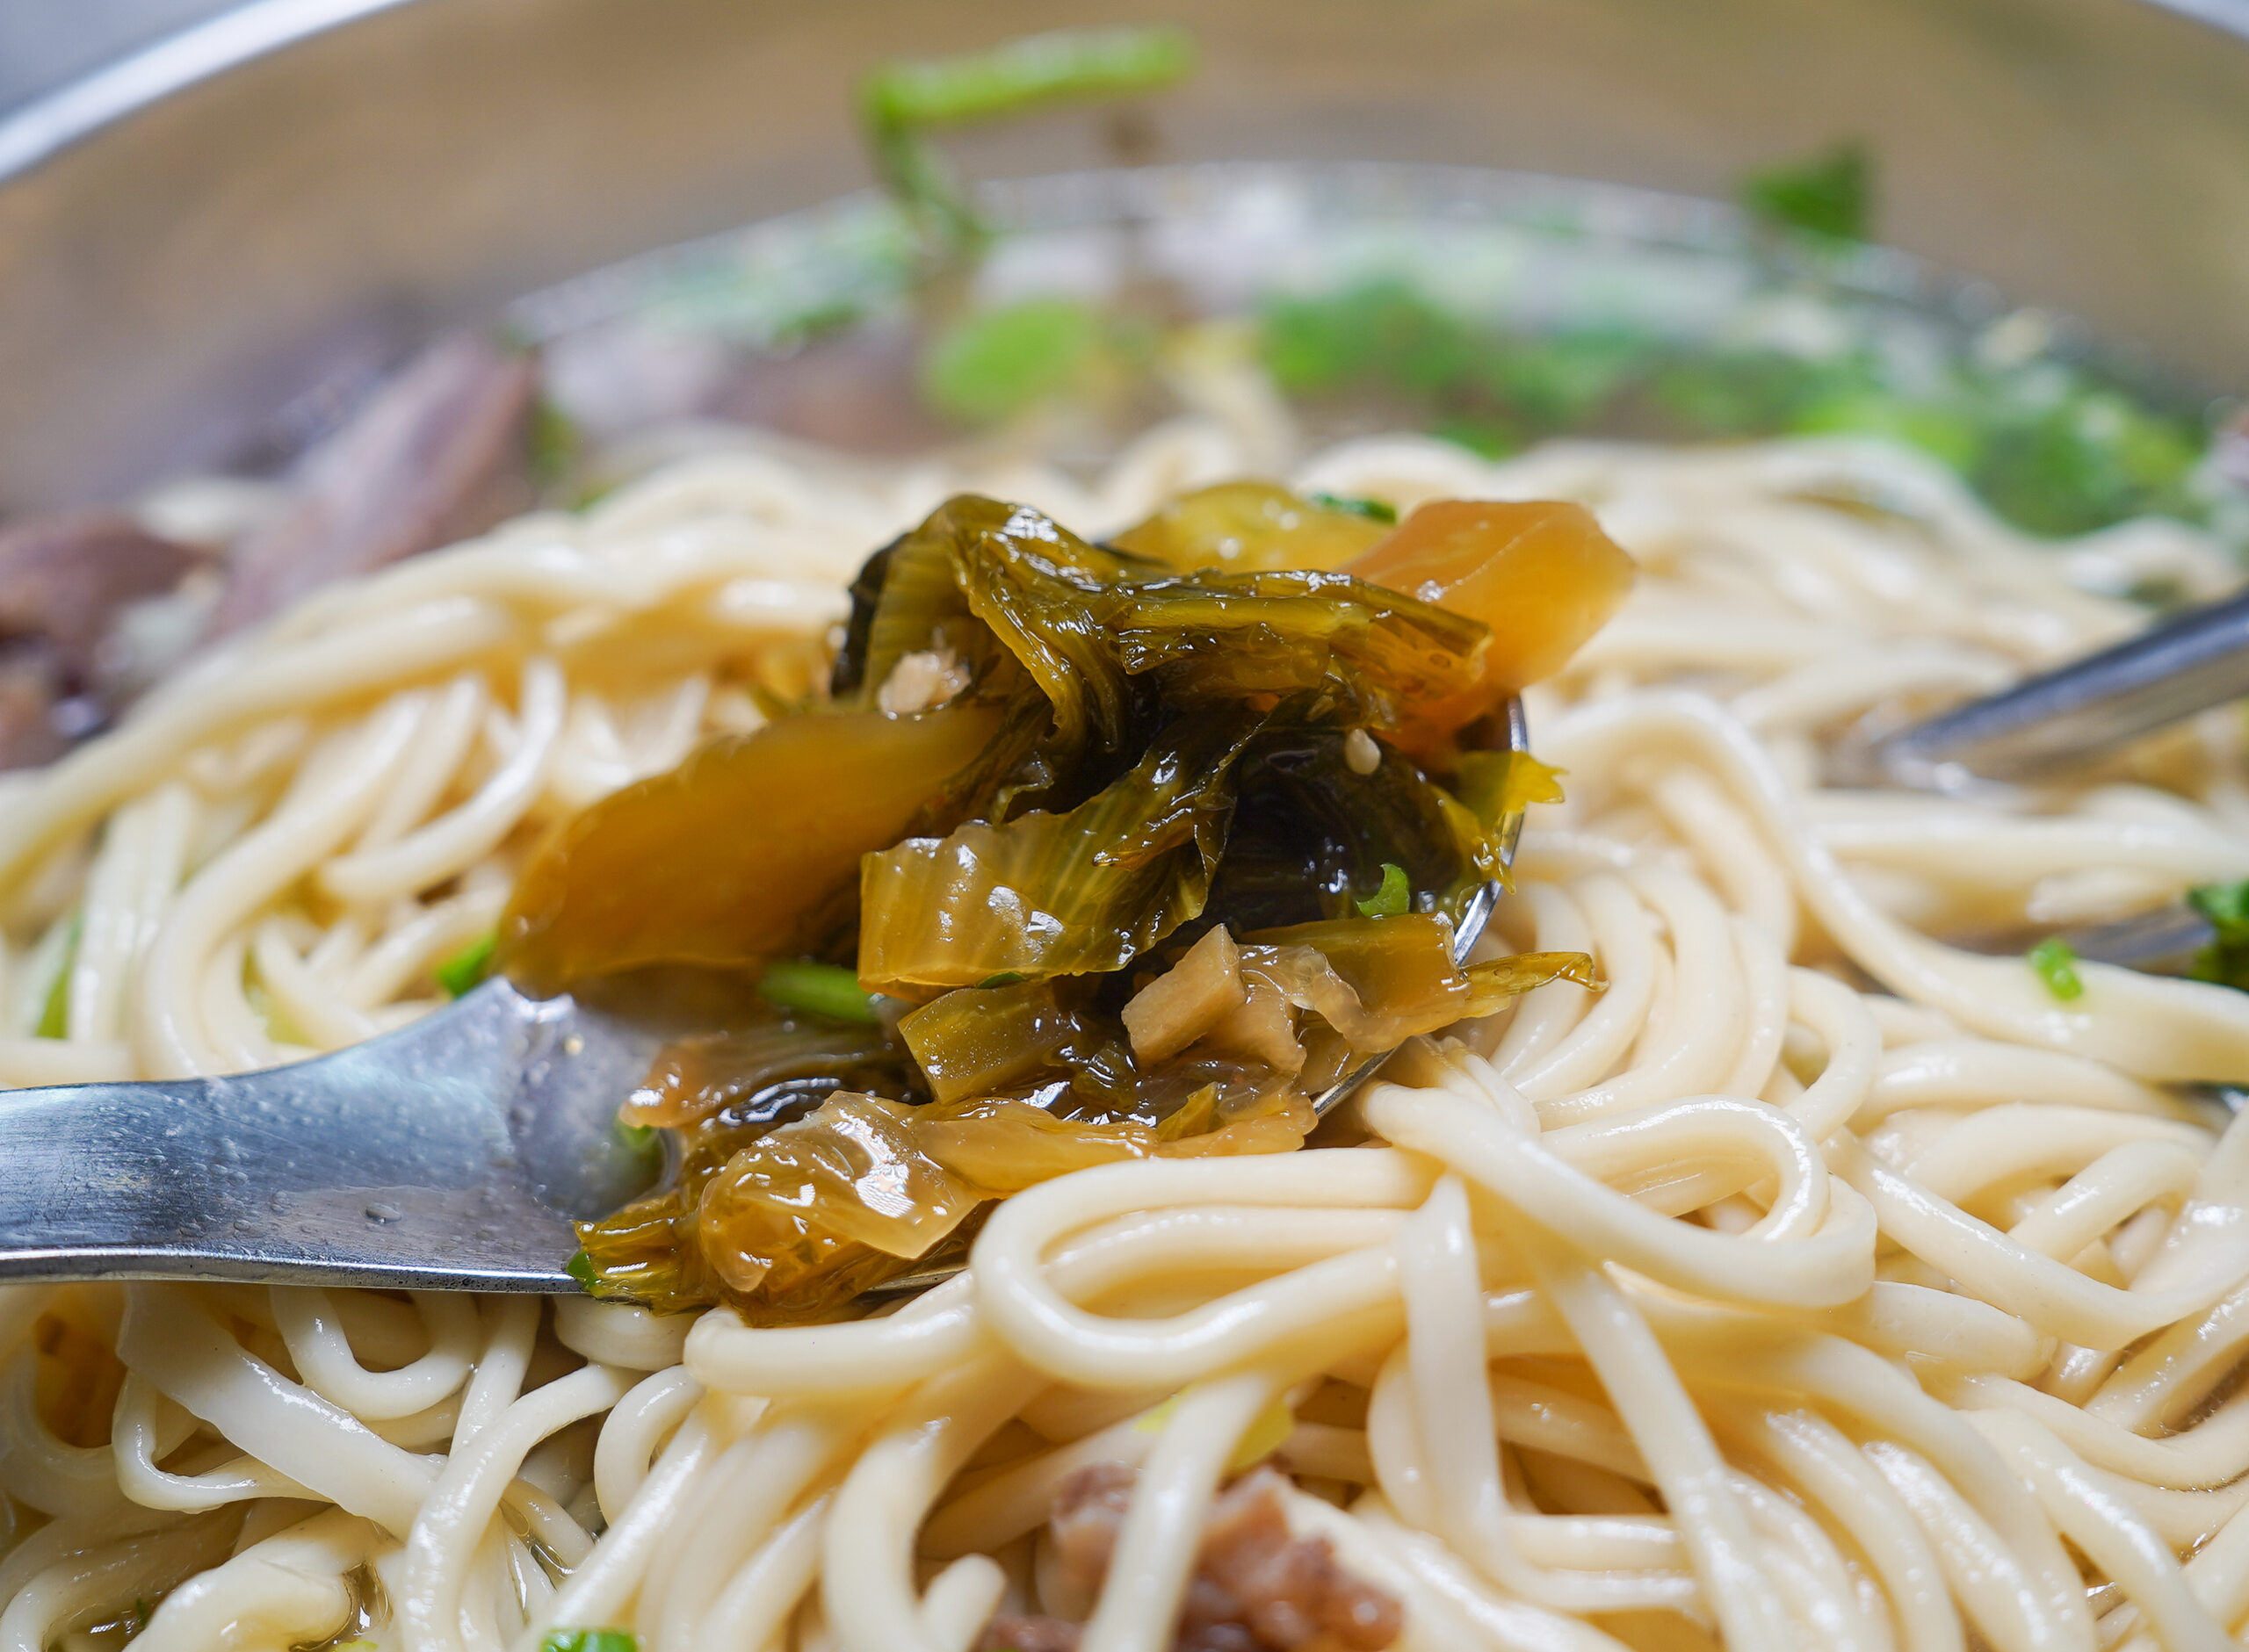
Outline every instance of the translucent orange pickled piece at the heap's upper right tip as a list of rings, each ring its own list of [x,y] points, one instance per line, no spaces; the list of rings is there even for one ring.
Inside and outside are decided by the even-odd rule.
[[[1453,730],[1559,672],[1633,589],[1633,560],[1583,506],[1437,499],[1345,564],[1491,627],[1475,688],[1421,712]]]

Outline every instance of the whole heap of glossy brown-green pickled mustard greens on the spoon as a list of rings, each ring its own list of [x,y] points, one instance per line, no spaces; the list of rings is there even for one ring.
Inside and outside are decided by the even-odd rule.
[[[1311,530],[1365,546],[1361,515],[1264,485],[1185,506],[1136,551],[947,501],[852,587],[843,710],[717,742],[540,852],[504,928],[520,978],[699,962],[762,969],[769,1000],[634,1092],[672,1178],[580,1227],[596,1295],[825,1317],[958,1254],[987,1200],[1293,1149],[1361,1056],[1592,984],[1577,953],[1455,962],[1500,823],[1552,773],[1451,733],[1514,681],[1493,614],[1523,665],[1496,569],[1552,587],[1520,607],[1568,584],[1579,625],[1622,553],[1568,508],[1437,508],[1361,555],[1370,580],[1282,566]],[[1230,510],[1266,537],[1194,566]],[[920,1007],[893,1025],[868,993]]]

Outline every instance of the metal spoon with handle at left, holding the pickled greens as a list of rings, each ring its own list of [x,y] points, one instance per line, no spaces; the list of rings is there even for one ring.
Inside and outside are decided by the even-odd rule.
[[[1491,726],[1493,744],[1527,748],[1518,701]],[[1520,829],[1520,816],[1505,825],[1509,861]],[[1498,895],[1489,883],[1469,901],[1462,957]],[[616,1108],[672,1032],[490,980],[290,1068],[4,1090],[0,1281],[573,1292],[571,1220],[609,1214],[652,1176]]]

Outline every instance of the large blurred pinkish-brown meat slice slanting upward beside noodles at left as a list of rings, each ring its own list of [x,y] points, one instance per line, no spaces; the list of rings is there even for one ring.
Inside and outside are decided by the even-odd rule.
[[[214,627],[254,625],[328,580],[452,544],[531,506],[538,369],[454,333],[304,456],[290,503],[234,553]]]

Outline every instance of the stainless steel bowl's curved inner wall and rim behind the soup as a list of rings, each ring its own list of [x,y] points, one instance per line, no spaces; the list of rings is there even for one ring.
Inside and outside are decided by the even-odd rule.
[[[0,506],[238,454],[355,360],[866,182],[900,52],[1142,0],[259,0],[0,124]],[[2188,16],[2193,13],[2193,16]],[[1473,162],[1723,196],[1855,137],[1885,236],[2249,384],[2236,0],[1205,0],[1133,160]],[[983,175],[1116,160],[1050,117]]]

